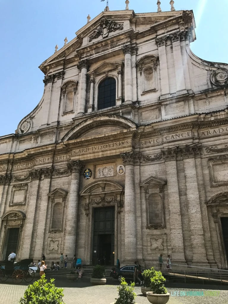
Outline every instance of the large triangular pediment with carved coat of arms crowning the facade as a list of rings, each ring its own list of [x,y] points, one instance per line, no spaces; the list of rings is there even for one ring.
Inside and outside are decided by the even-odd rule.
[[[64,60],[72,61],[79,60],[79,57],[85,56],[85,50],[91,50],[96,45],[96,42],[106,41],[106,38],[112,36],[123,36],[123,43],[129,33],[142,33],[153,29],[157,31],[164,22],[174,22],[174,19],[183,19],[184,24],[195,27],[192,11],[168,11],[168,12],[150,12],[137,13],[133,10],[105,11],[101,12],[94,19],[85,24],[75,34],[76,37],[59,48],[51,57],[45,60],[40,69],[46,74],[54,66],[62,65]],[[169,20],[169,21],[168,21]],[[187,20],[187,21],[186,21]],[[177,22],[177,21],[176,21]],[[157,28],[156,28],[157,27]],[[114,39],[114,37],[113,37]],[[115,38],[116,39],[116,38]],[[123,45],[122,40],[119,45]],[[110,48],[109,43],[105,42],[107,48]]]

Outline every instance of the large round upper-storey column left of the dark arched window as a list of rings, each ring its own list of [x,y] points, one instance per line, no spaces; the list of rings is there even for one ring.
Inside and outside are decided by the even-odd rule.
[[[82,60],[78,62],[78,70],[79,72],[81,72],[80,83],[79,83],[78,114],[85,113],[87,69],[88,69],[87,60]]]

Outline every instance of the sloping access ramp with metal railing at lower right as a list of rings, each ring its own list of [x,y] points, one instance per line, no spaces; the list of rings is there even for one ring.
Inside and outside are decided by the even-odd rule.
[[[156,270],[160,270],[159,262],[152,262],[151,264]],[[183,264],[171,264],[171,269],[167,269],[166,263],[163,263],[161,271],[163,275],[183,278],[185,283],[188,279],[197,279],[228,284],[228,270],[223,269],[189,266]]]

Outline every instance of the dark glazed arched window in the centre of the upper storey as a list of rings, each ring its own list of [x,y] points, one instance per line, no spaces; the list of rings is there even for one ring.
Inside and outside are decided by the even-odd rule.
[[[116,80],[112,77],[105,78],[98,88],[98,110],[116,105]]]

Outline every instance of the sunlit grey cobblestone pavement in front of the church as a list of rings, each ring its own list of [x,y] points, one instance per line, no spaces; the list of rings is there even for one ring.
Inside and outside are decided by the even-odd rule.
[[[28,284],[14,285],[7,281],[0,284],[0,303],[1,304],[18,304],[19,299],[23,296]],[[76,282],[67,282],[57,280],[57,287],[64,288],[64,302],[66,304],[110,304],[115,302],[118,296],[118,283],[113,280],[107,280],[106,285],[90,284],[89,279],[81,279]],[[209,286],[207,288],[210,288]],[[216,288],[221,288],[220,286]],[[227,287],[224,287],[227,289]],[[141,294],[140,287],[136,285],[135,292],[137,294],[136,303],[148,304],[148,300]],[[228,290],[212,290],[212,289],[187,289],[178,288],[178,284],[174,288],[168,288],[170,300],[168,304],[227,304]],[[179,296],[177,294],[179,292]],[[193,293],[191,295],[191,292]],[[195,295],[194,295],[195,292]],[[196,293],[197,292],[197,293]],[[204,294],[204,295],[202,295]],[[45,303],[43,303],[45,304]]]

